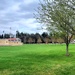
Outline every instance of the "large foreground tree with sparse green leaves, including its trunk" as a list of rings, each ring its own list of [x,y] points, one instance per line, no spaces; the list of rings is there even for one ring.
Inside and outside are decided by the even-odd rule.
[[[68,47],[75,34],[75,0],[43,0],[40,2],[35,18],[44,24],[48,31],[61,34],[68,56]]]

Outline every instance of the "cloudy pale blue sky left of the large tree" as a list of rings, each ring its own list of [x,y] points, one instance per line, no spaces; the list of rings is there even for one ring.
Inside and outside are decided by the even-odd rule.
[[[17,30],[25,33],[42,33],[38,30],[41,24],[37,23],[33,13],[38,7],[39,0],[0,0],[0,33]]]

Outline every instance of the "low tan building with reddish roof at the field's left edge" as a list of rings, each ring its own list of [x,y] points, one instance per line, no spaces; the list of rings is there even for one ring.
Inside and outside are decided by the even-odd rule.
[[[16,46],[22,44],[23,43],[19,38],[0,39],[0,46]]]

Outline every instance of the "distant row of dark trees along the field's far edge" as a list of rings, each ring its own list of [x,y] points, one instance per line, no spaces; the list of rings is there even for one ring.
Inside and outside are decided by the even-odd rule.
[[[14,35],[11,34],[11,38],[14,38]],[[20,38],[24,44],[28,43],[64,43],[61,34],[57,32],[53,32],[48,34],[47,32],[43,32],[42,34],[39,33],[23,33],[16,31],[16,38]],[[7,39],[10,38],[10,34],[1,34],[0,39]]]

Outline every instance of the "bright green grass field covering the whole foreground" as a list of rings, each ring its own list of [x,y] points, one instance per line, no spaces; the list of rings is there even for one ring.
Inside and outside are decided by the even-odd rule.
[[[64,44],[0,47],[0,75],[75,75],[75,45],[65,56]]]

